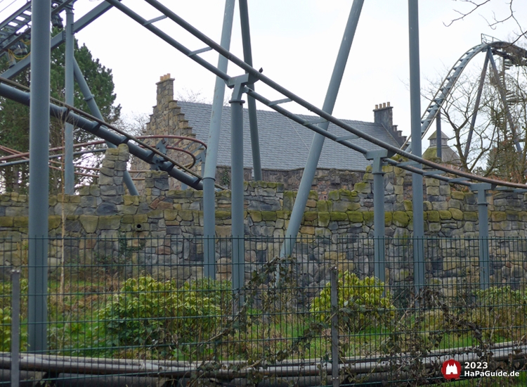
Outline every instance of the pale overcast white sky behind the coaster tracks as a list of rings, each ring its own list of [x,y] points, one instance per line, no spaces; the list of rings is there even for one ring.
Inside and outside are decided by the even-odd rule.
[[[8,1],[11,2],[0,0],[0,10]],[[100,1],[78,0],[74,7],[76,18]],[[144,18],[160,15],[144,1],[122,2]],[[219,42],[224,1],[162,2]],[[24,0],[16,0],[1,11],[0,17],[5,17],[23,3]],[[263,68],[263,73],[272,80],[322,107],[351,4],[351,0],[249,0],[254,67]],[[516,0],[514,6],[520,21],[521,18],[525,20],[527,1]],[[519,30],[514,23],[498,25],[495,30],[488,27],[486,18],[493,18],[493,12],[497,18],[507,15],[505,0],[492,0],[486,8],[465,20],[445,26],[458,16],[455,10],[468,9],[468,5],[460,1],[419,1],[423,88],[427,88],[428,80],[442,78],[462,53],[479,44],[481,33],[507,40]],[[192,50],[204,47],[168,19],[155,25]],[[108,11],[79,32],[77,39],[85,43],[103,65],[112,68],[117,102],[122,105],[124,113],[151,113],[155,104],[155,82],[166,73],[175,78],[176,94],[186,94],[184,90],[187,90],[212,100],[214,76],[210,72],[117,9]],[[242,58],[238,7],[231,51]],[[202,56],[217,63],[217,54],[213,52]],[[481,63],[482,55],[474,59],[474,66],[481,66]],[[242,71],[229,65],[228,73],[240,75]],[[372,121],[375,104],[390,101],[394,106],[394,123],[409,134],[408,79],[408,1],[365,0],[334,115]],[[261,83],[256,84],[256,91],[268,99],[280,98]],[[305,113],[292,103],[286,106],[297,113]],[[425,108],[426,101],[423,100],[422,110]]]

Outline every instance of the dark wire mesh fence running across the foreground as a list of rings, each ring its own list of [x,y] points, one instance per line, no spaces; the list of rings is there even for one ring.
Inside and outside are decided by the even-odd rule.
[[[20,380],[57,386],[421,385],[446,381],[450,358],[462,379],[526,364],[523,239],[423,239],[426,283],[417,287],[411,238],[382,241],[384,282],[375,241],[351,236],[297,239],[288,258],[283,239],[245,238],[239,269],[232,239],[215,239],[214,278],[204,277],[207,241],[198,237],[42,239],[34,244],[48,246],[48,262],[34,267],[28,242],[0,241],[11,263],[0,272],[3,385],[16,329]],[[242,286],[233,288],[238,272]],[[46,279],[44,298],[29,278]],[[44,308],[46,321],[29,305]],[[46,348],[34,350],[28,332],[42,323]],[[522,375],[484,380],[521,386]]]

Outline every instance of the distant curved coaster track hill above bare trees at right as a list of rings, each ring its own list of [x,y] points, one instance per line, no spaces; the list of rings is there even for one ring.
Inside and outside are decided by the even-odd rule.
[[[526,65],[527,64],[527,51],[522,49],[519,46],[508,42],[483,42],[477,46],[472,47],[469,51],[465,52],[450,68],[448,74],[446,75],[441,86],[436,91],[436,94],[430,100],[427,109],[424,110],[424,114],[421,118],[421,139],[427,134],[428,129],[430,128],[432,122],[438,115],[438,112],[441,110],[441,106],[446,101],[450,93],[453,91],[456,82],[460,79],[462,72],[469,62],[482,52],[491,51],[494,55],[501,56],[502,58],[509,59],[514,65]],[[410,137],[406,139],[405,143],[401,148],[404,148]]]

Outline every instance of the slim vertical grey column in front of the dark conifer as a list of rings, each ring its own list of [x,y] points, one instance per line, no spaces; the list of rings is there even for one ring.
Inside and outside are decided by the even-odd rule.
[[[66,7],[66,46],[64,62],[64,101],[67,105],[73,106],[73,6]],[[73,195],[75,191],[75,171],[73,165],[73,125],[65,124],[64,132],[64,193]]]

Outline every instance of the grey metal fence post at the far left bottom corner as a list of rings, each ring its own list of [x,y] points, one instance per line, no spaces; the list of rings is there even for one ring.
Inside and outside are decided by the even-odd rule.
[[[20,270],[11,271],[11,386],[20,383]]]

